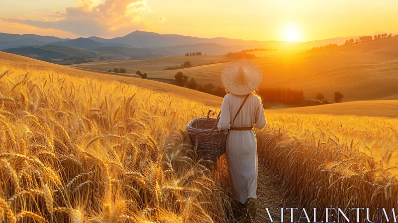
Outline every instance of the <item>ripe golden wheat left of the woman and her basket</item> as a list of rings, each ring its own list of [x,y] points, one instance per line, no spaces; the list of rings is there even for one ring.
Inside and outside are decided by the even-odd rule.
[[[3,220],[225,221],[226,168],[212,171],[185,133],[209,108],[120,82],[0,74]]]

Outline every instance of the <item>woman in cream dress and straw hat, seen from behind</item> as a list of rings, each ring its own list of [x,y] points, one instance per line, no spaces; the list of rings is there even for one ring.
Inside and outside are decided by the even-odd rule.
[[[256,216],[257,141],[254,128],[267,123],[261,99],[253,94],[260,85],[260,69],[249,61],[236,61],[226,66],[221,81],[230,94],[224,97],[218,130],[229,129],[226,159],[231,177],[232,194],[246,204],[251,217]]]

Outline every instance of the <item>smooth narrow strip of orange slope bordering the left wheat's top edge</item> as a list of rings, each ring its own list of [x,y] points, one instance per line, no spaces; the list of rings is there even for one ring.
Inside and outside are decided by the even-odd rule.
[[[27,57],[0,52],[0,66],[2,64],[17,66],[17,67],[35,67],[36,69],[39,70],[54,70],[57,72],[66,73],[78,77],[95,77],[101,80],[120,81],[127,84],[134,84],[138,87],[144,87],[149,90],[154,90],[157,92],[181,95],[188,100],[198,101],[208,106],[219,106],[222,101],[222,98],[217,96],[212,96],[191,89],[182,88],[175,85],[165,84],[157,81],[143,80],[137,78],[139,77],[137,75],[131,75],[131,74],[121,75],[109,72],[76,69],[72,67],[56,65]]]

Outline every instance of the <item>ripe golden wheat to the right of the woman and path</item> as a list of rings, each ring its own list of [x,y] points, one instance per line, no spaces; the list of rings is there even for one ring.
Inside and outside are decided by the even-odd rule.
[[[369,207],[372,216],[378,207],[398,205],[398,119],[266,115],[259,156],[300,207]]]

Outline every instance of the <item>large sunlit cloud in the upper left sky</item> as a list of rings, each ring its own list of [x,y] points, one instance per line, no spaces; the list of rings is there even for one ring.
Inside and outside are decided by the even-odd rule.
[[[146,0],[77,0],[76,7],[67,7],[65,12],[54,10],[53,14],[46,15],[55,20],[1,19],[83,36],[120,36],[143,29],[146,15],[152,12]]]

